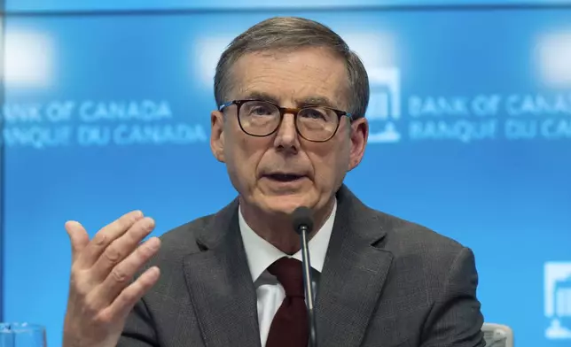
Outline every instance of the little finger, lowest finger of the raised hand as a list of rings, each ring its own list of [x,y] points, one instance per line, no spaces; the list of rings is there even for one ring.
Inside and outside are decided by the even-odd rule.
[[[134,281],[129,287],[123,289],[121,294],[113,300],[106,310],[103,311],[107,317],[119,318],[124,320],[137,301],[141,299],[149,289],[153,288],[154,284],[159,280],[160,270],[159,267],[153,266],[145,273],[141,274],[137,281]]]

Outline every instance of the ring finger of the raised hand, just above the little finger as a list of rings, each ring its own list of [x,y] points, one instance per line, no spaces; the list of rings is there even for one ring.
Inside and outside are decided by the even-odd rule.
[[[110,305],[125,289],[133,276],[145,265],[145,263],[159,251],[160,239],[151,237],[141,244],[136,251],[129,254],[107,275],[105,281],[98,288],[98,297],[102,300],[100,305]]]

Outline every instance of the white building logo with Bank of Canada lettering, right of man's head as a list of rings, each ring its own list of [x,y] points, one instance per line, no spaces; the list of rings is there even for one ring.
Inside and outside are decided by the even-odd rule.
[[[368,68],[370,143],[571,140],[571,89],[405,93],[401,69]]]

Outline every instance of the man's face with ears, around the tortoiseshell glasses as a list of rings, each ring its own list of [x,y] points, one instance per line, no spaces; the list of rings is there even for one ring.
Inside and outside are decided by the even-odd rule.
[[[346,68],[327,50],[250,53],[232,71],[234,84],[225,101],[264,98],[294,108],[322,100],[329,103],[323,106],[347,111]],[[345,174],[363,158],[364,119],[350,124],[343,116],[331,140],[313,143],[297,134],[293,114],[285,113],[274,134],[254,137],[240,129],[237,112],[236,105],[225,115],[212,112],[211,148],[226,163],[242,204],[262,212],[291,213],[300,205],[325,208]]]

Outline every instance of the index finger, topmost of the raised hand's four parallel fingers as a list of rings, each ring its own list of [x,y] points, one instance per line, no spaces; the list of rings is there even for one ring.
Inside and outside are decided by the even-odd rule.
[[[119,219],[107,224],[93,236],[91,242],[83,249],[78,262],[81,266],[92,266],[107,246],[117,237],[125,234],[129,227],[132,227],[137,220],[143,218],[143,212],[133,211],[122,215]]]

